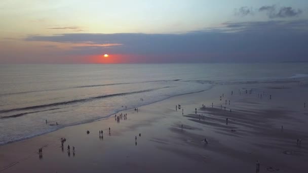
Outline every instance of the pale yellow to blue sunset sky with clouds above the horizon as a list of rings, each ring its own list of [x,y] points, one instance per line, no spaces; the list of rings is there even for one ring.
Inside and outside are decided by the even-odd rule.
[[[308,61],[306,0],[1,0],[0,21],[0,64]]]

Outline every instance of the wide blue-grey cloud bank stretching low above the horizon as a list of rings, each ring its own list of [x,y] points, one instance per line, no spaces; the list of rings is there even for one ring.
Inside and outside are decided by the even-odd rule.
[[[107,52],[144,55],[142,61],[146,62],[287,61],[305,60],[308,55],[308,20],[225,22],[222,25],[182,34],[64,33],[29,35],[25,40],[79,44],[78,48],[59,52],[57,56]]]

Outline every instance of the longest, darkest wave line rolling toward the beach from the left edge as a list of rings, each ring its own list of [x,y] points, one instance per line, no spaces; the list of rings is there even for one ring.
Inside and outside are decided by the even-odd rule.
[[[0,110],[0,113],[8,113],[8,112],[13,112],[13,111],[23,111],[23,110],[30,110],[30,109],[39,109],[39,108],[45,108],[45,107],[68,105],[68,104],[74,104],[74,103],[80,103],[80,102],[88,102],[88,101],[93,101],[93,100],[97,100],[97,99],[103,99],[103,98],[115,97],[115,96],[125,96],[125,95],[137,94],[137,93],[144,93],[144,92],[150,92],[150,91],[155,91],[155,90],[160,90],[160,89],[165,89],[165,88],[170,88],[170,86],[165,86],[163,88],[158,88],[158,89],[141,90],[141,91],[135,91],[135,92],[129,92],[129,93],[110,94],[110,95],[103,95],[103,96],[97,96],[97,97],[90,97],[90,98],[86,98],[86,99],[78,99],[78,100],[71,100],[71,101],[66,101],[66,102],[50,103],[50,104],[45,104],[45,105],[36,105],[36,106],[29,106],[29,107],[23,107],[23,108],[6,109],[6,110]],[[2,117],[2,118],[4,118],[4,117]]]

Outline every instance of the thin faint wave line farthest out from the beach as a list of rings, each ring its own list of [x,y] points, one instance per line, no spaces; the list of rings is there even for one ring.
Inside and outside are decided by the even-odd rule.
[[[49,90],[36,90],[36,91],[6,93],[6,94],[0,94],[0,96],[29,94],[29,93],[40,93],[40,92],[50,92],[50,91],[60,91],[60,90],[68,90],[68,89],[92,88],[92,87],[110,86],[110,85],[122,85],[122,84],[133,84],[133,83],[148,83],[148,82],[164,82],[164,81],[179,81],[179,80],[181,80],[181,79],[174,79],[174,80],[149,80],[149,81],[141,81],[141,82],[94,84],[94,85],[73,86],[73,87],[60,88],[60,89],[49,89]]]

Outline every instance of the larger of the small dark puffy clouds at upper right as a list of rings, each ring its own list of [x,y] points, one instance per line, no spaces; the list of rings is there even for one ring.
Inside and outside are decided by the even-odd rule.
[[[293,9],[292,7],[281,7],[279,10],[275,5],[262,6],[258,10],[259,12],[265,12],[269,18],[288,18],[296,17],[302,14],[301,9]]]

